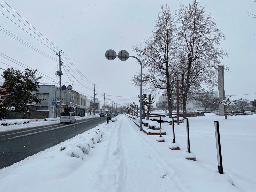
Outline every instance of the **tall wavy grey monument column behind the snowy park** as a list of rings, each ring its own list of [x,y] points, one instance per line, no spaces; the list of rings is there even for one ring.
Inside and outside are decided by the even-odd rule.
[[[226,99],[225,90],[224,90],[224,67],[218,66],[218,89],[220,94],[220,101],[223,101]],[[219,111],[220,116],[225,116],[225,106],[222,104],[219,104]]]

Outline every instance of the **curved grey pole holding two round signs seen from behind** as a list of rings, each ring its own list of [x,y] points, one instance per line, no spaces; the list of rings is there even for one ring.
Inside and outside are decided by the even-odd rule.
[[[116,56],[121,60],[121,61],[126,61],[129,57],[133,57],[137,59],[140,63],[140,131],[142,131],[142,63],[139,60],[139,58],[135,56],[130,56],[129,53],[125,50],[119,51],[118,55],[116,55],[116,52],[112,49],[109,49],[105,53],[105,57],[108,60],[114,60]]]

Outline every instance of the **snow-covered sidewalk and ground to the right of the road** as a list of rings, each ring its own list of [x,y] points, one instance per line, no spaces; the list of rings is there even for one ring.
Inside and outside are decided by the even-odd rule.
[[[184,157],[185,123],[175,125],[180,150],[174,151],[168,148],[173,138],[167,123],[163,123],[165,142],[158,142],[159,136],[139,131],[125,115],[114,119],[1,169],[0,191],[256,191],[256,115],[228,116],[228,120],[214,114],[189,118],[190,149],[196,161]],[[215,120],[220,125],[222,175],[218,173]],[[92,137],[97,138],[93,148]]]

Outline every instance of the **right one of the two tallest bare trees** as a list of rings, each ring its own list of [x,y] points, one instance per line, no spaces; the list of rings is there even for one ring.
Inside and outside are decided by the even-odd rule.
[[[217,28],[214,18],[204,13],[204,8],[199,6],[198,0],[193,0],[192,5],[180,5],[178,13],[180,52],[186,58],[182,101],[185,119],[190,88],[195,83],[207,87],[214,85],[217,80],[217,65],[221,65],[220,58],[228,56],[225,49],[218,48],[220,41],[226,37]]]

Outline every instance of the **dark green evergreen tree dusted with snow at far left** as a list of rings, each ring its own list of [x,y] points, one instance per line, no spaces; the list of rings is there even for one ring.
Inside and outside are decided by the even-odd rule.
[[[26,113],[29,110],[30,104],[37,104],[41,101],[32,92],[38,91],[39,79],[36,77],[37,70],[25,69],[24,72],[7,68],[3,72],[2,77],[5,79],[3,88],[3,98],[5,99],[5,106],[1,110],[8,110],[15,107],[15,111],[22,111],[23,118],[26,118]]]

